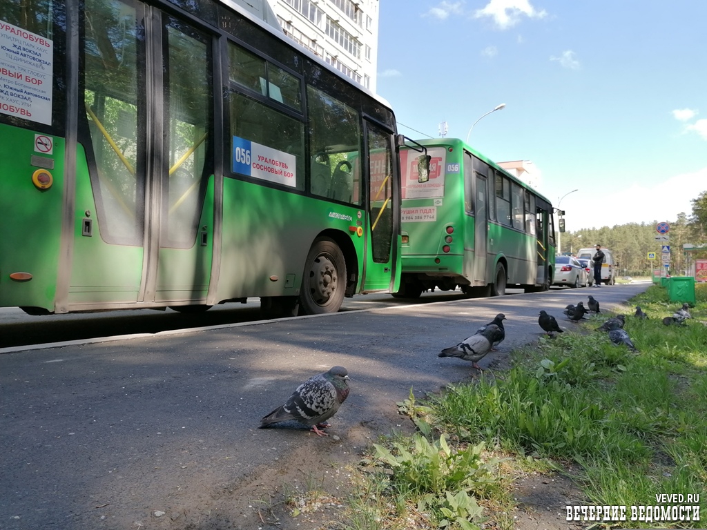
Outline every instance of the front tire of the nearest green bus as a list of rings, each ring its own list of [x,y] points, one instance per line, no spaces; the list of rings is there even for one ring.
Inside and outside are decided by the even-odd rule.
[[[312,244],[300,289],[300,314],[339,311],[346,291],[346,261],[339,245],[329,237],[318,237]]]

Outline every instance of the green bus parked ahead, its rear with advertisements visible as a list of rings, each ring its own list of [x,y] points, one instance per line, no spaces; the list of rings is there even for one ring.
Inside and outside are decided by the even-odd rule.
[[[419,143],[431,157],[427,182],[411,179],[416,151],[400,151],[402,279],[394,296],[547,290],[555,256],[550,201],[459,139]]]

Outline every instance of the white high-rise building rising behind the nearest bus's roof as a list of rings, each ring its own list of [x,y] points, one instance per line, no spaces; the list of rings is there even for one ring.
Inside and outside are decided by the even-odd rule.
[[[378,0],[269,0],[284,33],[375,93]]]

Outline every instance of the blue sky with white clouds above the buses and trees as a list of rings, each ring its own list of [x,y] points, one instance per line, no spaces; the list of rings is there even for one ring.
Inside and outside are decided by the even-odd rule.
[[[702,0],[381,0],[377,92],[414,139],[506,103],[469,143],[531,160],[555,206],[578,189],[568,230],[672,221],[707,190],[706,20]]]

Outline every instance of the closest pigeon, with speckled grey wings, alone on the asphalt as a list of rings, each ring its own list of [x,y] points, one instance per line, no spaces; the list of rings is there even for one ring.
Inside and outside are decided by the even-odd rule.
[[[310,377],[297,387],[286,404],[260,420],[259,429],[296,420],[310,427],[317,436],[328,436],[320,428],[329,427],[326,420],[334,416],[349,396],[348,373],[343,366],[334,366],[329,372]]]

